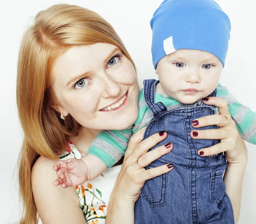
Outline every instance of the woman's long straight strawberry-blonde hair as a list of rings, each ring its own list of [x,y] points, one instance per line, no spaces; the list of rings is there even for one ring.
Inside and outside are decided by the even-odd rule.
[[[40,11],[23,36],[17,67],[17,108],[24,132],[19,156],[24,205],[20,224],[38,223],[31,187],[36,159],[44,156],[57,160],[68,137],[78,134],[79,124],[71,116],[61,120],[52,108],[58,104],[51,88],[52,65],[70,47],[93,43],[116,45],[131,60],[113,27],[95,12],[79,6],[60,4]]]

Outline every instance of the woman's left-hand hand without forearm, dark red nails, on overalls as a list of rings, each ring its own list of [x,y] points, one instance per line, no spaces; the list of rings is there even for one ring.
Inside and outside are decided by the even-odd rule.
[[[122,169],[116,180],[116,185],[122,191],[122,195],[131,200],[131,203],[135,203],[138,200],[140,190],[143,188],[146,180],[173,169],[172,164],[151,169],[144,168],[162,155],[171,152],[173,148],[173,145],[170,143],[148,152],[149,149],[167,137],[167,132],[156,133],[142,141],[144,132],[145,128],[140,129],[131,137],[125,152]]]

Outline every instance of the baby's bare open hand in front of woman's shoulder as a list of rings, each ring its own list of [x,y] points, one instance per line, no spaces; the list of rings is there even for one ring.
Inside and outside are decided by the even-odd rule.
[[[54,181],[54,185],[67,188],[83,184],[90,177],[87,164],[81,159],[60,160],[53,164],[58,178]]]

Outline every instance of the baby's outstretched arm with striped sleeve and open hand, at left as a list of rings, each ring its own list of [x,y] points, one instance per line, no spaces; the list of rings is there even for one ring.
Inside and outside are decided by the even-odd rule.
[[[124,155],[131,135],[131,129],[102,131],[81,159],[58,161],[53,165],[58,176],[54,185],[66,188],[95,179]]]

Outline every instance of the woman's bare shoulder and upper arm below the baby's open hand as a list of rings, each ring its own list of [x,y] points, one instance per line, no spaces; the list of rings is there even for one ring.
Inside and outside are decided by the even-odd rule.
[[[32,167],[31,184],[38,213],[43,222],[54,223],[53,220],[59,221],[61,217],[62,223],[67,223],[70,216],[63,213],[63,209],[68,207],[74,215],[73,219],[84,220],[76,189],[54,186],[57,175],[52,166],[55,162],[54,159],[40,156]]]

